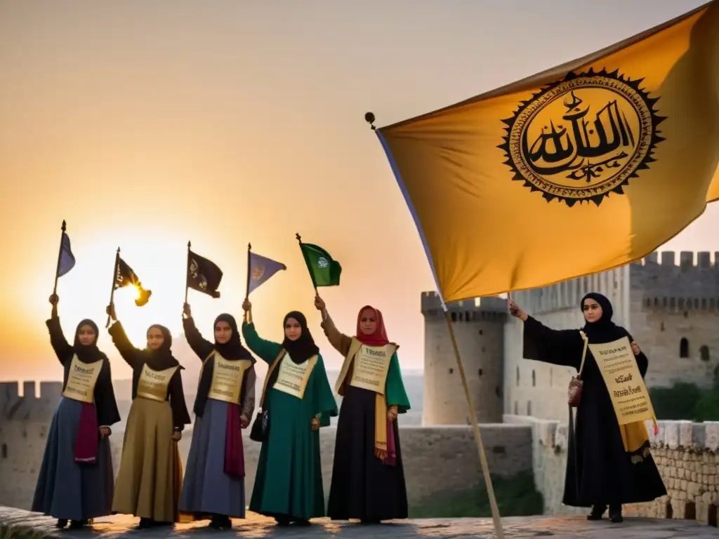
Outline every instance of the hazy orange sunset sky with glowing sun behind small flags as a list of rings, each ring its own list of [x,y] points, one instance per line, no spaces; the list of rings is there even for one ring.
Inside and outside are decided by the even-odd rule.
[[[190,292],[198,326],[241,317],[247,242],[288,265],[250,298],[260,335],[303,310],[330,368],[295,233],[342,263],[321,290],[339,326],[383,310],[421,367],[419,294],[433,280],[380,144],[382,126],[580,57],[699,0],[0,1],[0,379],[59,379],[44,325],[60,223],[78,263],[60,279],[71,339],[104,326],[114,253],[153,291],[116,294],[136,344],[179,333],[186,244],[224,270]],[[279,7],[282,6],[282,7]],[[522,216],[507,208],[506,226]],[[719,251],[719,207],[669,248]],[[101,348],[117,357],[104,329]],[[116,377],[129,369],[114,364]]]

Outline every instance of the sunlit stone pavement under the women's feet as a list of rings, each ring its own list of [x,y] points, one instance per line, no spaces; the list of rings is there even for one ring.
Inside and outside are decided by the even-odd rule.
[[[426,538],[495,538],[492,519],[421,519],[403,520],[381,525],[361,525],[354,522],[330,522],[313,520],[309,527],[290,526],[278,528],[274,520],[248,514],[247,520],[235,520],[232,531],[206,529],[206,522],[183,524],[172,528],[134,530],[138,520],[116,516],[96,520],[91,529],[60,531],[55,520],[37,516],[11,507],[0,507],[0,522],[10,525],[29,526],[47,535],[67,539],[120,539],[124,536],[143,539],[209,537],[238,538],[326,538],[326,539],[426,539]],[[608,520],[587,522],[585,517],[508,517],[503,519],[505,538],[552,538],[552,539],[705,539],[719,538],[719,529],[702,526],[689,520],[651,520],[627,518],[623,524],[611,524]]]

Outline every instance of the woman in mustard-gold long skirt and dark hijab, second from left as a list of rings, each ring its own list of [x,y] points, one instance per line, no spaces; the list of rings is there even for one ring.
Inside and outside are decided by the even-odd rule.
[[[147,349],[132,346],[115,306],[109,333],[122,359],[132,367],[132,406],[122,443],[122,460],[112,510],[140,517],[139,528],[179,521],[182,464],[177,442],[190,415],[185,403],[183,367],[173,357],[165,326],[147,329]]]

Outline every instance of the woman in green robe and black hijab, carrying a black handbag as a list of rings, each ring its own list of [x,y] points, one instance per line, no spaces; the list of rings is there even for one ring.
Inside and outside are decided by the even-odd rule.
[[[268,428],[249,510],[274,517],[279,525],[307,525],[325,514],[319,428],[337,415],[337,403],[305,315],[296,310],[285,315],[285,338],[278,344],[257,335],[249,300],[242,308],[244,340],[270,365],[260,399]]]

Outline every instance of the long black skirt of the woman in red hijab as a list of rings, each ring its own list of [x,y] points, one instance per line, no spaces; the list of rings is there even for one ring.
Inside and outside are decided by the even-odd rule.
[[[375,392],[347,386],[337,421],[327,514],[333,520],[407,518],[399,429],[393,421],[395,466],[375,456]]]

